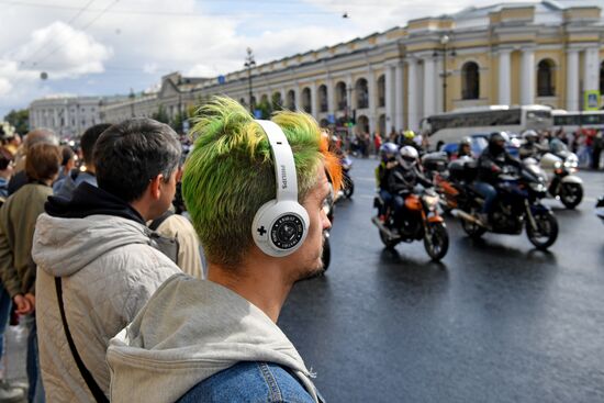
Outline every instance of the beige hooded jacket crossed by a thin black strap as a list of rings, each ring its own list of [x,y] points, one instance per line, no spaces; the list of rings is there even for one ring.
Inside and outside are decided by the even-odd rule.
[[[32,256],[37,264],[36,321],[46,400],[93,401],[67,345],[55,277],[74,343],[96,382],[109,394],[105,352],[153,292],[179,268],[150,247],[149,230],[112,215],[37,219]]]

